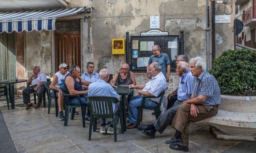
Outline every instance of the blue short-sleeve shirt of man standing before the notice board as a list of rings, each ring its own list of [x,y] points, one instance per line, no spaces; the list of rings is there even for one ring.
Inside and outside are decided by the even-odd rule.
[[[169,56],[166,53],[161,53],[160,56],[156,57],[154,54],[150,56],[149,63],[157,62],[161,65],[161,70],[164,76],[166,76],[166,65],[170,65],[171,62],[169,60]]]

